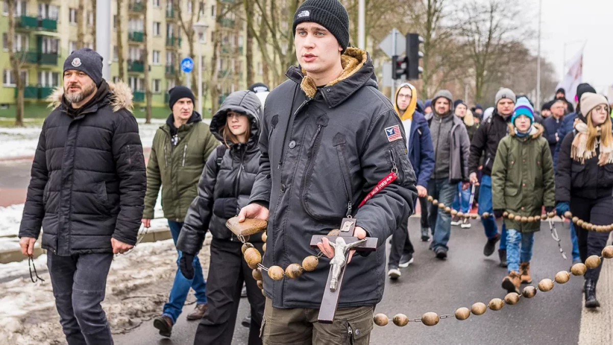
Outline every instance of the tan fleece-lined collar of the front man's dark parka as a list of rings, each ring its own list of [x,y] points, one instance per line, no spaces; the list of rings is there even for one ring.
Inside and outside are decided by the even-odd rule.
[[[343,73],[326,85],[324,99],[329,107],[337,107],[365,85],[378,88],[373,61],[365,50],[348,47],[341,55],[341,66]],[[298,83],[308,98],[317,94],[317,85],[300,66],[291,66],[286,76]]]

